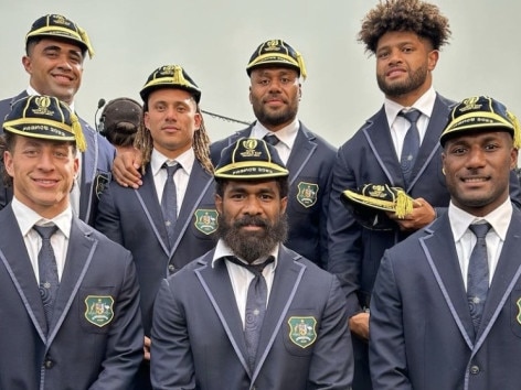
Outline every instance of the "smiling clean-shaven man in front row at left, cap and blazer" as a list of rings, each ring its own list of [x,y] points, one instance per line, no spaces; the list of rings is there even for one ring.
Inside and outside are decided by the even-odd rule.
[[[139,288],[130,252],[73,215],[78,119],[31,96],[3,130],[13,199],[0,210],[0,388],[127,390],[142,354]],[[56,229],[51,258],[45,227]]]

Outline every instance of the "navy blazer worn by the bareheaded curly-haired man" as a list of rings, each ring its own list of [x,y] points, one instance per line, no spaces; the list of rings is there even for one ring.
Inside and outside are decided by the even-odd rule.
[[[390,230],[362,227],[342,204],[340,194],[368,183],[389,184],[405,188],[414,198],[425,198],[437,209],[438,215],[445,213],[450,196],[442,172],[443,150],[439,136],[447,123],[453,105],[453,101],[436,96],[407,188],[383,107],[338,152],[329,205],[328,270],[340,278],[348,296],[350,316],[362,306],[369,306],[374,279],[385,249],[402,241],[408,234],[402,232],[397,224]],[[510,194],[512,201],[518,204],[521,202],[519,180],[513,171],[510,177]]]

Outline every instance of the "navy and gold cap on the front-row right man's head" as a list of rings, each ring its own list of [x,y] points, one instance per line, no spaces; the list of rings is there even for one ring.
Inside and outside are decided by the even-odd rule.
[[[474,96],[460,101],[453,108],[449,122],[443,131],[439,142],[445,142],[466,131],[507,131],[513,138],[514,148],[521,147],[521,129],[515,116],[507,110],[503,104],[488,97]]]

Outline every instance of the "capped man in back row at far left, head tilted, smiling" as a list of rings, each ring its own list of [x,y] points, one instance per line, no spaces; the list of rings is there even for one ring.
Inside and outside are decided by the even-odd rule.
[[[22,58],[30,75],[29,87],[18,96],[0,100],[0,122],[14,101],[28,95],[46,94],[65,101],[74,110],[86,54],[94,55],[87,33],[73,21],[60,14],[47,14],[34,21],[25,37],[25,55]],[[110,178],[115,149],[85,120],[79,119],[87,142],[81,154],[79,180],[71,202],[76,215],[89,225],[94,224],[99,192]],[[0,208],[12,198],[12,188],[0,183]]]

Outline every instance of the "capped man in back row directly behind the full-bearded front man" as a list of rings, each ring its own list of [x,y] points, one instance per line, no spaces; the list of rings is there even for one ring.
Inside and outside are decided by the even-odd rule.
[[[337,150],[297,118],[302,96],[300,77],[307,76],[304,58],[286,42],[270,40],[253,53],[246,72],[251,80],[249,101],[257,120],[247,129],[212,143],[212,161],[216,164],[221,151],[240,138],[277,137],[275,148],[289,170],[286,246],[326,268],[326,220]]]

